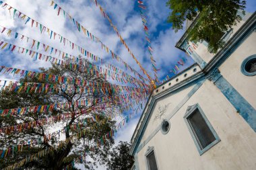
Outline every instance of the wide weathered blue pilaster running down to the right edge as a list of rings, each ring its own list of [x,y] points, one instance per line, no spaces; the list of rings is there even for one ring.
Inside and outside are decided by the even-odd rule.
[[[220,77],[215,85],[222,91],[225,97],[236,108],[237,112],[245,119],[245,121],[256,132],[256,110],[248,101],[240,94],[224,77]]]

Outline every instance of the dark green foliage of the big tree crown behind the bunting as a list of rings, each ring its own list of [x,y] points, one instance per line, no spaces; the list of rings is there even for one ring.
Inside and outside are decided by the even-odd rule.
[[[88,67],[88,62],[86,62]],[[40,69],[42,73],[53,74],[57,76],[73,77],[75,79],[85,79],[86,81],[93,81],[94,83],[108,83],[104,81],[102,77],[96,77],[91,73],[87,72],[87,69],[81,69],[80,71],[53,65],[50,69]],[[40,81],[39,79],[25,78],[20,79],[22,82],[35,82],[35,83],[46,83]],[[49,83],[49,82],[47,82]],[[51,82],[50,82],[51,83]],[[83,160],[83,164],[86,168],[90,168],[96,163],[104,164],[106,163],[106,157],[108,151],[114,144],[113,138],[104,141],[104,144],[97,146],[97,141],[99,141],[102,136],[110,132],[111,128],[114,128],[115,121],[110,120],[108,116],[113,114],[113,112],[119,109],[119,106],[116,105],[116,102],[113,100],[101,101],[102,97],[109,97],[114,95],[111,93],[102,93],[98,90],[88,91],[87,93],[81,93],[79,90],[74,90],[79,87],[75,82],[68,82],[68,89],[73,89],[71,91],[66,91],[65,87],[61,84],[57,84],[57,87],[61,89],[58,93],[56,91],[52,92],[31,92],[31,91],[20,91],[14,92],[10,91],[11,85],[5,87],[4,90],[0,91],[0,109],[9,109],[9,108],[26,108],[36,105],[47,105],[51,103],[66,103],[71,102],[71,108],[63,109],[57,108],[53,112],[47,113],[33,113],[28,112],[24,115],[9,115],[9,116],[0,116],[0,128],[15,126],[17,124],[26,124],[32,121],[40,121],[44,118],[49,118],[49,116],[61,116],[67,113],[75,113],[86,111],[86,114],[72,114],[69,118],[61,120],[61,122],[53,122],[47,124],[39,124],[39,126],[31,127],[30,129],[22,130],[21,132],[11,132],[8,134],[0,134],[0,150],[3,148],[9,148],[17,144],[21,144],[24,141],[28,140],[38,140],[42,142],[37,144],[32,144],[30,148],[24,146],[22,152],[16,152],[13,155],[10,154],[4,159],[0,158],[0,169],[12,165],[13,163],[18,163],[22,159],[38,153],[39,151],[49,148],[53,145],[57,145],[57,142],[60,140],[65,140],[73,134],[77,134],[80,128],[67,128],[65,134],[61,138],[58,135],[51,136],[50,140],[44,140],[44,136],[48,136],[53,131],[63,129],[67,126],[72,127],[72,125],[84,124],[84,119],[86,118],[86,124],[82,129],[88,129],[86,134],[82,134],[79,140],[72,142],[69,140],[61,148],[55,149],[53,152],[49,153],[45,157],[40,159],[34,159],[28,163],[25,163],[21,169],[63,169],[66,165],[69,165],[75,157],[81,155],[86,155],[86,160]],[[79,89],[79,88],[78,88]],[[74,107],[75,101],[80,99],[97,99],[97,102],[88,103],[88,105],[80,105],[79,107]],[[108,103],[108,107],[104,110],[100,109],[102,103]],[[92,110],[92,108],[96,108]],[[90,121],[92,117],[97,117],[97,121]],[[91,148],[94,147],[92,150]],[[90,158],[90,159],[89,159]],[[91,160],[91,161],[90,161]]]

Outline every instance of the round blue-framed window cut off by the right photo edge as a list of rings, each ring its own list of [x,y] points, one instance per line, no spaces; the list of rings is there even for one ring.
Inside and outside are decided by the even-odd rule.
[[[247,76],[256,75],[256,54],[249,56],[243,61],[241,71]]]

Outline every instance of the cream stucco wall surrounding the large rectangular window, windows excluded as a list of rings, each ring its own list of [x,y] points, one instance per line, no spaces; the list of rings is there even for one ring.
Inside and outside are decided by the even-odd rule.
[[[177,95],[172,95],[165,100],[166,103],[173,102],[177,100]],[[221,140],[201,156],[183,119],[187,107],[195,103],[199,103]],[[172,108],[168,108],[168,113],[170,112],[172,112]],[[148,128],[148,131],[153,129],[152,126]],[[149,133],[147,132],[145,136],[148,136]],[[205,81],[177,114],[170,119],[168,134],[158,131],[152,140],[139,151],[139,170],[146,170],[145,153],[148,146],[154,146],[158,170],[253,170],[256,167],[255,143],[256,134],[249,124],[236,113],[234,107],[212,82]]]

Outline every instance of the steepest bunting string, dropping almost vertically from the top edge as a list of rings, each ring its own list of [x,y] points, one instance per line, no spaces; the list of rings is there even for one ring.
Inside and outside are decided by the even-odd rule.
[[[152,63],[152,68],[154,71],[155,79],[156,79],[156,81],[158,81],[157,71],[159,71],[159,69],[156,69],[156,60],[154,60],[154,57],[152,55],[153,49],[152,49],[151,40],[150,40],[150,37],[148,34],[148,24],[147,24],[147,19],[146,19],[147,17],[142,11],[142,10],[144,10],[144,11],[146,10],[146,5],[144,5],[143,1],[137,1],[137,4],[138,4],[138,7],[140,8],[139,12],[140,12],[140,16],[141,16],[143,30],[145,33],[146,42],[148,44],[148,53],[150,54],[150,61]]]

